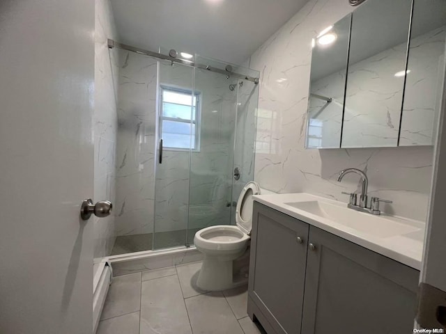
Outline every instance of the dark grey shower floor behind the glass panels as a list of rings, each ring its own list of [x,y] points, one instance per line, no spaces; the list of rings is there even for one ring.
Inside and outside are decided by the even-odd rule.
[[[194,235],[200,228],[189,230],[189,244],[194,244]],[[155,249],[184,246],[186,230],[155,233]],[[112,253],[110,255],[142,252],[153,249],[153,233],[121,235],[116,237]]]

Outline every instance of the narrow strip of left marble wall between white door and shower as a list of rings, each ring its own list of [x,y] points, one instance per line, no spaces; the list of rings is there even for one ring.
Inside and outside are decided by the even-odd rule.
[[[109,0],[95,1],[95,111],[94,134],[94,201],[111,200],[115,204],[116,99],[114,77],[107,38],[116,38],[114,17]],[[94,258],[100,259],[112,251],[115,238],[114,214],[93,218]]]

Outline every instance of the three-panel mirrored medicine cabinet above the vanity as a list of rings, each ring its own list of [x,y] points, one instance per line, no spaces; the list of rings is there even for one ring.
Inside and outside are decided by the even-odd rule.
[[[446,0],[367,0],[312,40],[306,148],[433,145]]]

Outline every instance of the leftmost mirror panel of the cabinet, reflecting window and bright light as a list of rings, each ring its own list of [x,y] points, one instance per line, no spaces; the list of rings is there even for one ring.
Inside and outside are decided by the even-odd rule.
[[[339,148],[351,15],[313,40],[307,148]]]

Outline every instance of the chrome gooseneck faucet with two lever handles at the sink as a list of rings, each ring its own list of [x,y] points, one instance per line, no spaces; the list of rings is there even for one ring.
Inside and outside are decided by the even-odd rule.
[[[367,188],[369,186],[369,179],[367,178],[367,175],[362,170],[359,170],[357,168],[346,168],[344,170],[341,170],[339,172],[339,177],[337,178],[337,182],[341,182],[341,180],[344,178],[344,176],[348,173],[356,173],[360,175],[362,180],[362,193],[360,195],[360,205],[356,205],[356,193],[345,193],[344,191],[342,193],[345,193],[346,195],[350,196],[350,200],[348,202],[347,207],[350,209],[355,209],[360,212],[367,212],[369,214],[381,214],[379,209],[379,202],[387,202],[392,203],[391,200],[381,200],[378,197],[372,197],[370,201],[370,207],[367,207]]]

